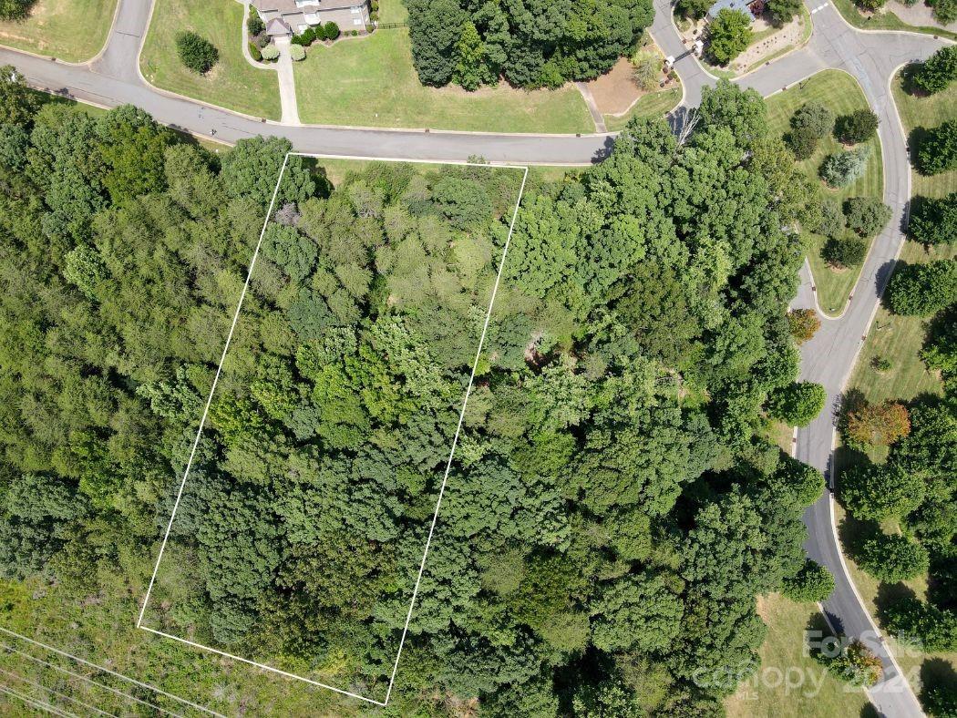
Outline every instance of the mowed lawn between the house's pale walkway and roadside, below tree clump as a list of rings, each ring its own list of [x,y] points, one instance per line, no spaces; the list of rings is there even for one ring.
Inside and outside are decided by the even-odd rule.
[[[383,0],[380,16],[396,21],[403,16],[395,8],[398,4],[400,0]],[[559,90],[525,91],[500,82],[476,92],[451,85],[423,86],[412,66],[412,45],[406,28],[378,30],[328,47],[317,43],[306,52],[306,59],[295,65],[303,123],[487,132],[594,132],[588,107],[572,85]]]

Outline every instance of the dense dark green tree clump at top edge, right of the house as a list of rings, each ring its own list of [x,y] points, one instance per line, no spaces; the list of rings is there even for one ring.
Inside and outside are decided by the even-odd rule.
[[[519,87],[595,79],[634,50],[651,0],[408,0],[412,60],[423,84],[467,90],[501,77]]]

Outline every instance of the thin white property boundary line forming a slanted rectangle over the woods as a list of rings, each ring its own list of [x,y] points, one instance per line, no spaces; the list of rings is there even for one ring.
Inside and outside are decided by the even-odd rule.
[[[149,633],[155,634],[157,636],[162,636],[163,638],[166,638],[166,639],[178,640],[181,643],[186,643],[187,645],[192,646],[193,648],[200,648],[202,650],[209,651],[216,655],[223,656],[224,658],[230,658],[230,659],[234,659],[235,661],[240,661],[240,662],[248,663],[250,665],[254,665],[257,668],[261,668],[263,670],[277,673],[278,675],[285,676],[286,678],[293,678],[307,684],[312,684],[321,688],[332,690],[341,695],[348,696],[349,698],[356,698],[360,701],[366,701],[367,703],[371,703],[375,706],[385,707],[389,704],[389,698],[391,697],[391,694],[392,694],[392,685],[395,684],[395,674],[398,671],[399,660],[402,658],[402,649],[405,646],[406,636],[409,633],[409,624],[412,621],[412,611],[415,608],[415,601],[418,598],[419,587],[422,582],[422,574],[423,572],[425,572],[426,559],[428,558],[429,550],[432,547],[432,539],[433,539],[433,535],[435,531],[435,525],[438,522],[438,510],[440,506],[442,505],[442,496],[445,493],[445,487],[449,480],[449,473],[452,471],[452,460],[456,454],[456,446],[458,444],[458,437],[461,433],[462,423],[465,420],[465,408],[466,408],[466,405],[468,404],[469,396],[471,396],[472,394],[472,387],[475,383],[476,371],[479,368],[479,358],[481,357],[481,352],[485,345],[485,336],[488,333],[488,325],[492,319],[492,307],[495,304],[495,297],[499,291],[499,282],[501,281],[501,271],[505,266],[505,257],[508,255],[508,245],[512,240],[512,233],[515,231],[515,221],[518,218],[519,207],[522,204],[522,197],[525,191],[525,183],[528,180],[528,167],[523,165],[498,165],[498,164],[484,165],[484,164],[478,164],[473,162],[461,162],[461,161],[442,162],[442,161],[434,161],[434,160],[405,160],[405,162],[412,162],[412,163],[421,164],[421,165],[456,165],[456,166],[479,167],[479,168],[521,169],[523,170],[523,175],[522,175],[522,186],[519,189],[519,196],[518,196],[518,199],[516,199],[515,209],[512,211],[512,219],[508,226],[508,236],[505,238],[505,244],[501,250],[501,260],[499,261],[499,270],[495,277],[495,283],[492,285],[492,296],[489,299],[488,310],[485,312],[485,323],[484,325],[482,325],[481,337],[479,338],[479,348],[476,350],[476,358],[472,364],[472,372],[469,375],[469,383],[465,389],[465,396],[462,400],[462,408],[458,413],[458,424],[456,426],[456,434],[455,434],[455,437],[452,439],[452,449],[449,452],[449,459],[445,465],[445,474],[442,477],[442,483],[438,490],[438,499],[435,502],[435,510],[432,517],[432,524],[429,527],[429,535],[426,539],[425,549],[422,551],[422,560],[419,563],[418,574],[415,578],[415,587],[412,589],[412,600],[409,603],[409,611],[406,614],[405,625],[402,628],[402,638],[399,639],[399,648],[395,654],[395,662],[392,664],[392,672],[391,672],[391,675],[389,676],[389,688],[386,690],[386,699],[385,701],[376,701],[372,698],[367,698],[366,696],[361,696],[357,693],[352,693],[351,691],[344,690],[343,688],[337,688],[334,685],[323,684],[323,683],[320,683],[319,681],[313,681],[308,678],[303,678],[302,676],[297,676],[293,673],[280,670],[278,668],[275,668],[270,665],[266,665],[264,663],[250,661],[249,659],[244,659],[241,656],[235,656],[232,653],[226,653],[225,651],[220,651],[216,648],[211,648],[210,646],[203,645],[202,643],[196,643],[192,640],[182,639],[178,636],[172,636],[170,634],[164,633],[162,631],[157,631],[156,629],[149,628],[148,626],[143,625],[143,619],[146,613],[146,606],[149,604],[149,597],[152,594],[153,586],[156,583],[156,576],[160,571],[160,563],[163,561],[163,554],[165,553],[167,549],[167,543],[169,541],[169,533],[172,530],[173,521],[176,518],[176,511],[179,509],[180,501],[183,498],[183,490],[186,487],[186,482],[187,482],[187,479],[189,478],[189,470],[192,468],[192,461],[196,456],[196,449],[199,446],[199,440],[200,438],[202,438],[203,428],[206,425],[206,418],[210,412],[210,406],[212,404],[212,396],[216,391],[216,385],[219,382],[219,376],[223,370],[223,362],[226,361],[226,353],[227,351],[229,351],[230,344],[233,341],[233,334],[235,331],[235,327],[239,321],[239,313],[240,311],[242,311],[242,304],[243,304],[243,301],[246,299],[246,293],[249,290],[250,280],[252,280],[253,278],[253,270],[256,268],[256,258],[259,256],[259,249],[262,246],[263,236],[265,236],[266,234],[266,228],[269,225],[269,220],[273,215],[273,208],[276,206],[276,198],[278,196],[279,186],[282,184],[282,176],[285,173],[286,166],[289,163],[289,157],[292,155],[298,155],[300,157],[314,157],[314,158],[320,158],[320,159],[323,159],[323,158],[324,159],[342,159],[342,157],[339,157],[336,155],[324,155],[324,154],[315,154],[315,153],[309,153],[309,152],[287,152],[285,158],[282,161],[282,167],[279,169],[279,176],[276,181],[276,188],[273,190],[273,196],[269,201],[269,208],[266,212],[266,218],[262,223],[262,230],[259,232],[259,238],[256,241],[256,249],[253,251],[253,258],[249,264],[249,272],[246,275],[246,281],[243,283],[242,292],[239,295],[239,303],[236,305],[236,310],[233,315],[233,324],[230,326],[229,334],[226,337],[226,346],[223,347],[223,352],[219,358],[219,366],[216,368],[216,373],[212,378],[212,386],[210,389],[210,395],[206,399],[206,405],[203,408],[203,415],[199,420],[199,428],[196,430],[196,437],[193,439],[192,448],[189,451],[189,460],[187,460],[186,469],[183,472],[183,480],[180,482],[179,489],[176,493],[176,501],[173,503],[173,510],[169,516],[169,522],[167,524],[166,534],[163,537],[163,543],[160,545],[160,553],[156,558],[156,566],[153,569],[153,574],[149,579],[149,587],[146,589],[146,595],[143,601],[143,607],[140,609],[140,616],[137,618],[136,627],[141,628],[144,631],[148,631]],[[370,159],[370,160],[374,159],[374,161],[376,162],[397,162],[397,160],[382,160],[382,159],[375,159],[375,158],[354,158],[354,159]]]

